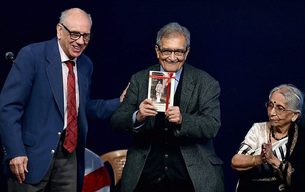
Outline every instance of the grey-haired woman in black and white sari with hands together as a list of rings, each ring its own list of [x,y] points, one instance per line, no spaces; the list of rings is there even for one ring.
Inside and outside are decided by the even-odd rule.
[[[269,122],[254,123],[231,160],[240,176],[236,191],[304,190],[305,132],[296,124],[302,106],[303,93],[295,86],[271,90]]]

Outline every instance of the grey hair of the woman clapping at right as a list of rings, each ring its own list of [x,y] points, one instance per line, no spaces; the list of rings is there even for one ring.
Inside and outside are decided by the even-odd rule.
[[[282,93],[286,98],[286,105],[291,109],[292,112],[300,111],[300,116],[302,116],[302,107],[304,101],[304,93],[296,88],[292,84],[282,84],[277,87],[274,87],[269,94],[269,99],[271,95],[278,91]]]

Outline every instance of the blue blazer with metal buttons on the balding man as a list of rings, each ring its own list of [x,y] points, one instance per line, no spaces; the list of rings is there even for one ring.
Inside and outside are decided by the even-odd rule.
[[[77,58],[79,87],[77,184],[84,181],[84,151],[88,130],[86,115],[106,119],[120,100],[89,100],[93,65],[84,54]],[[64,126],[63,76],[57,37],[22,48],[0,94],[0,133],[4,172],[15,178],[9,160],[27,156],[25,183],[45,176]]]

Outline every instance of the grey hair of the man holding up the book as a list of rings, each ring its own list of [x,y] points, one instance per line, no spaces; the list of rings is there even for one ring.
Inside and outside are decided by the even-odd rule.
[[[158,31],[157,45],[161,46],[161,38],[166,39],[171,37],[177,37],[178,34],[183,34],[186,39],[186,47],[190,46],[191,34],[186,27],[182,27],[179,23],[168,23]]]

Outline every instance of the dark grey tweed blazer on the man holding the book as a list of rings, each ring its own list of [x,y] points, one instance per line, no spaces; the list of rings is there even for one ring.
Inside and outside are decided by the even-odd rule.
[[[179,139],[181,153],[196,192],[224,191],[223,162],[216,156],[212,140],[220,127],[220,87],[206,72],[186,63],[183,67],[180,101],[182,124],[181,130],[174,130],[174,134]],[[134,132],[132,116],[148,96],[150,70],[160,71],[160,64],[131,77],[124,101],[111,119],[115,132]],[[154,117],[146,118],[141,131],[134,133],[123,169],[122,192],[132,192],[139,181],[151,147],[154,120]]]

